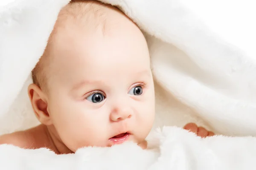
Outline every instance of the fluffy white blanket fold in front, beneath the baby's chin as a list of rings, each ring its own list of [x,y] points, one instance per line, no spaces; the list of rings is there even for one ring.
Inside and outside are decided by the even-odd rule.
[[[158,129],[149,140],[159,150],[126,142],[106,148],[81,148],[55,155],[45,148],[24,150],[0,145],[4,170],[247,170],[255,169],[256,139],[214,136],[201,139],[177,127]],[[240,146],[240,147],[237,147]],[[5,154],[2,154],[5,153]]]

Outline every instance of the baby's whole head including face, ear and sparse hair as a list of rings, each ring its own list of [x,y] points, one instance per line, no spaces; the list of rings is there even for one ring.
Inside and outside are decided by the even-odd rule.
[[[140,144],[151,130],[147,43],[115,7],[93,1],[65,6],[32,75],[28,91],[38,120],[73,152],[121,143],[113,138],[121,133]]]

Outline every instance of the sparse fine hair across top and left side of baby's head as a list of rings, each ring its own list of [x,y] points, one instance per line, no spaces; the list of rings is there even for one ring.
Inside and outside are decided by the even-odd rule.
[[[123,15],[129,20],[116,7],[95,0],[72,0],[62,8],[49,36],[44,54],[32,70],[33,83],[43,91],[47,90],[47,80],[51,75],[50,63],[52,58],[55,57],[54,44],[58,43],[58,37],[62,36],[64,31],[74,31],[73,34],[76,34],[75,31],[79,27],[85,29],[84,31],[100,29],[103,35],[109,34],[111,29],[118,24],[118,22],[113,22],[116,14]]]

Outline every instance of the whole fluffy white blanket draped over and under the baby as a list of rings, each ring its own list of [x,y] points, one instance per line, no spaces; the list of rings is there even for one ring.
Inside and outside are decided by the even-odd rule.
[[[195,122],[219,134],[256,135],[254,1],[102,1],[118,5],[145,32],[156,83],[154,127],[181,127]],[[30,71],[44,51],[59,10],[68,2],[0,1],[0,134],[38,124],[26,94]],[[120,168],[117,162],[130,169],[150,165],[152,169],[180,170],[255,166],[254,138],[217,136],[201,140],[174,129],[175,133],[171,128],[156,136],[152,134],[154,140],[163,139],[157,143],[162,152],[142,151],[133,144],[124,144],[57,156],[46,149],[1,145],[0,167],[3,164],[7,169],[15,169],[16,165],[19,170],[28,169],[26,166],[56,169],[56,165],[97,169],[97,162],[101,163],[98,168],[107,169],[110,165]],[[128,146],[131,149],[127,150]],[[120,156],[121,151],[127,154]],[[47,164],[42,163],[46,161]]]

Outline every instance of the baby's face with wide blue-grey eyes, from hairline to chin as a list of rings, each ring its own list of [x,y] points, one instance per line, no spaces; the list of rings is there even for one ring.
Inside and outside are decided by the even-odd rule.
[[[140,143],[151,130],[155,108],[148,47],[139,28],[120,25],[107,34],[61,29],[55,37],[47,111],[72,151]],[[121,133],[125,136],[114,138]]]

